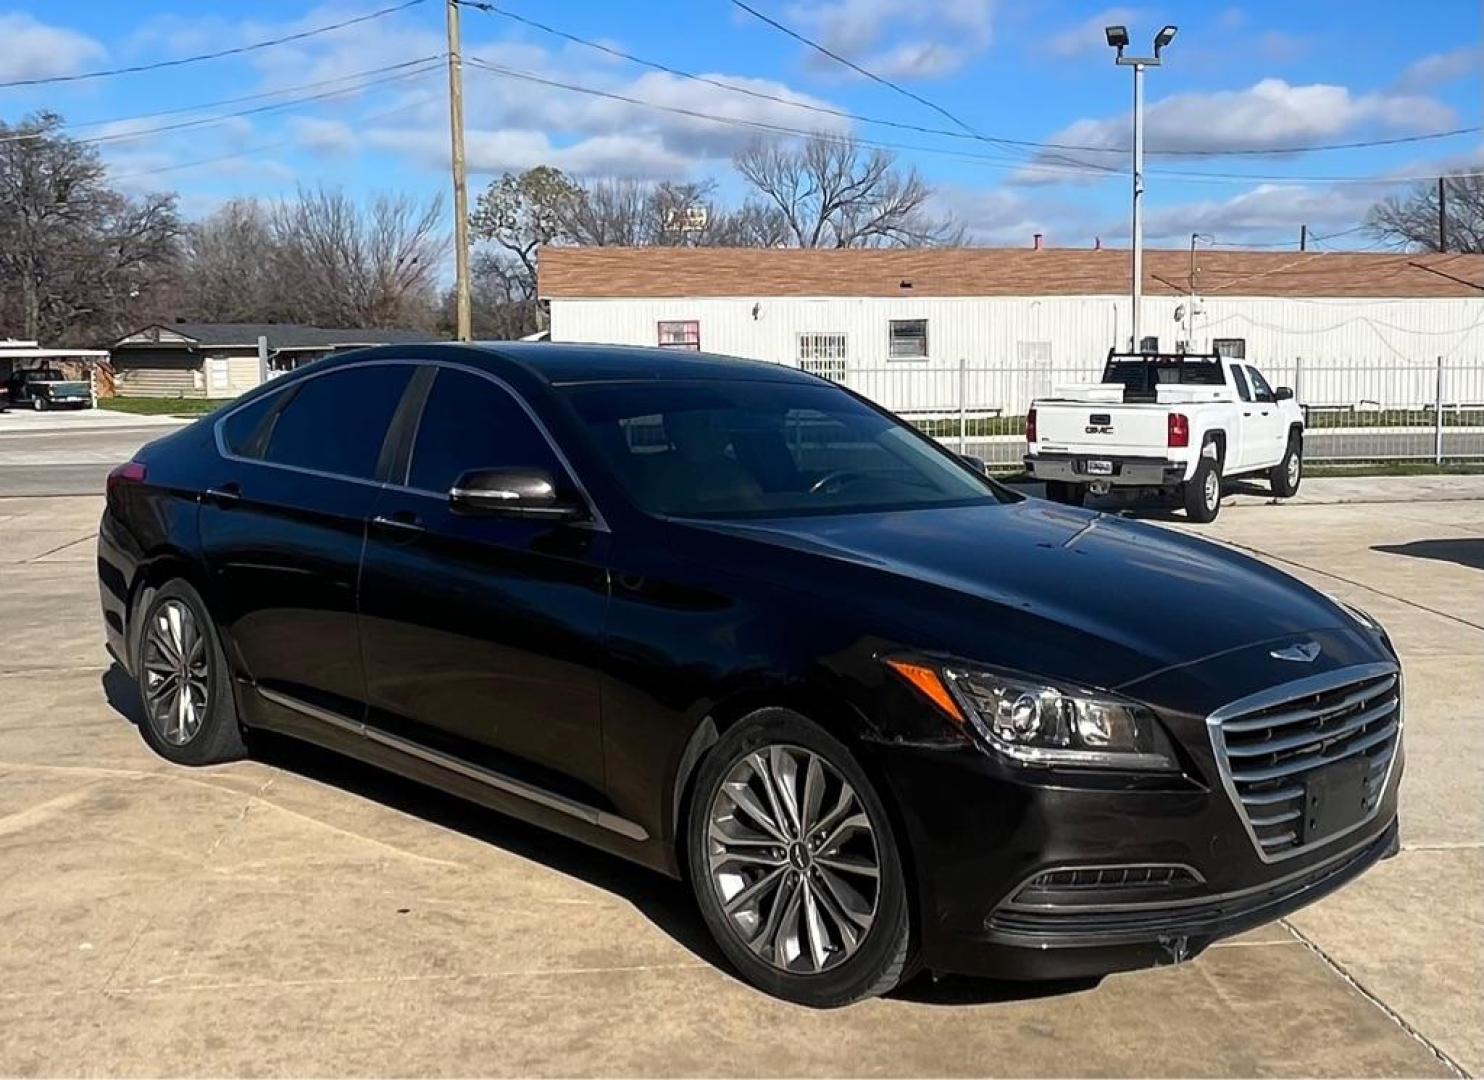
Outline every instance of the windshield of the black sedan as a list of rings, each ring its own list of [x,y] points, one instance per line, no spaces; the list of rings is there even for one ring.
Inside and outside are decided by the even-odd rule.
[[[1005,500],[914,429],[828,386],[600,383],[565,393],[650,513],[766,518]]]

